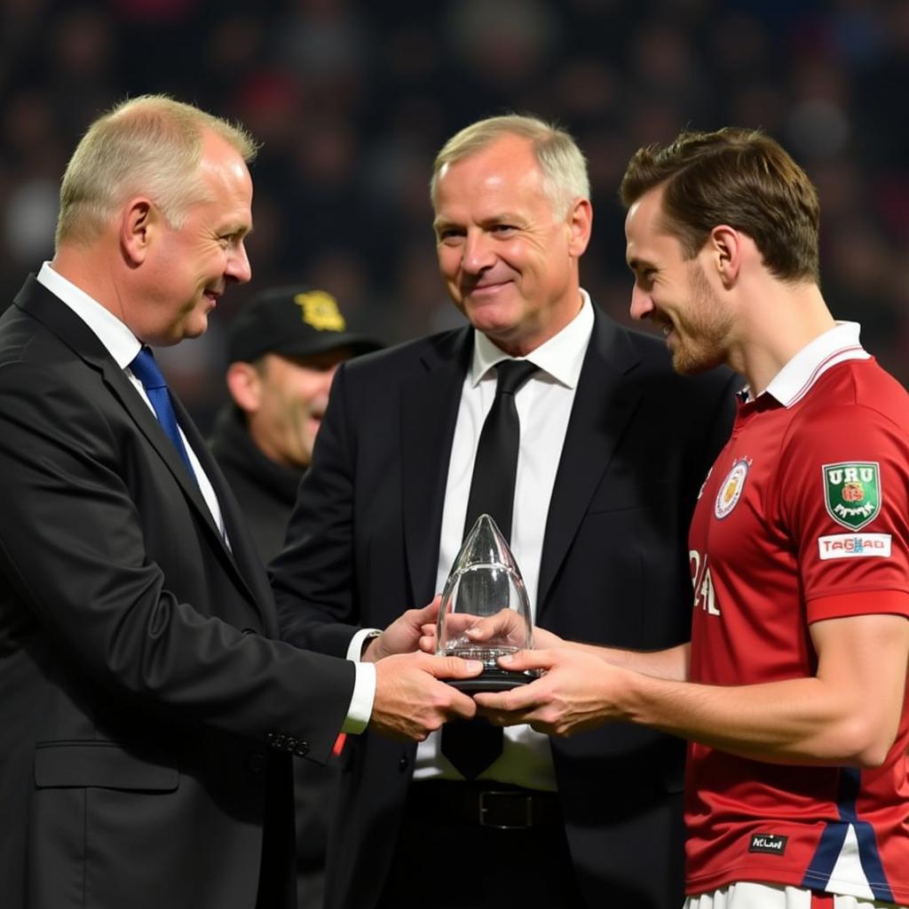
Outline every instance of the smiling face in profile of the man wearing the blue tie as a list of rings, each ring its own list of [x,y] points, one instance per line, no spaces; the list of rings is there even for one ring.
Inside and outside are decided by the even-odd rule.
[[[141,303],[128,323],[146,343],[173,345],[202,335],[227,285],[252,276],[244,241],[252,227],[253,183],[242,156],[206,134],[199,171],[205,198],[188,205],[184,223],[167,225],[160,212],[150,222]]]

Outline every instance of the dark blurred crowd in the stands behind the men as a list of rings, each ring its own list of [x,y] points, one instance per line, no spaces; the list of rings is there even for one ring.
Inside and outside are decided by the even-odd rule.
[[[822,204],[834,315],[909,384],[909,2],[899,0],[0,0],[0,307],[53,254],[60,175],[85,126],[165,92],[242,121],[253,167],[251,285],[162,356],[207,429],[225,327],[256,289],[333,292],[386,344],[456,325],[427,184],[482,116],[557,120],[594,189],[582,283],[623,322],[616,189],[636,147],[761,126]]]

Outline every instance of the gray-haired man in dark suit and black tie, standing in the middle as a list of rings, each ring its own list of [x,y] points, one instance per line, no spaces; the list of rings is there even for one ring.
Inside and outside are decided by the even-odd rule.
[[[589,195],[574,141],[534,118],[481,121],[437,156],[438,260],[470,325],[339,369],[273,564],[287,639],[387,653],[388,635],[366,637],[442,588],[482,462],[513,496],[511,514],[490,508],[506,511],[537,624],[625,647],[685,640],[685,532],[731,425],[733,380],[678,378],[660,340],[596,310],[578,268]],[[490,411],[512,405],[503,430]],[[517,434],[514,479],[508,445],[477,454],[490,419]],[[681,904],[678,744],[630,727],[561,741],[524,726],[474,735],[487,742],[467,748],[468,766],[471,735],[347,744],[329,909]]]

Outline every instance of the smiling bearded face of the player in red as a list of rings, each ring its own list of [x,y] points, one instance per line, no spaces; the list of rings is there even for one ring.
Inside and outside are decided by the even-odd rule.
[[[726,362],[733,317],[710,284],[702,256],[685,259],[662,219],[662,188],[638,199],[625,218],[625,257],[634,272],[631,315],[666,335],[676,372],[703,372]]]

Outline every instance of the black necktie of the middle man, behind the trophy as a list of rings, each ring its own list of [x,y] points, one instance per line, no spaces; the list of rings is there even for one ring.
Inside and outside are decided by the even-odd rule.
[[[526,360],[503,360],[495,367],[495,398],[476,446],[464,534],[481,514],[491,514],[504,538],[511,542],[514,480],[521,447],[514,395],[536,370]],[[482,717],[447,723],[442,729],[442,754],[460,774],[473,780],[502,754],[502,729]]]

